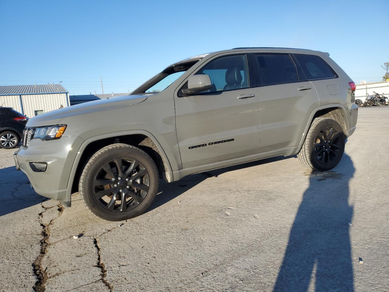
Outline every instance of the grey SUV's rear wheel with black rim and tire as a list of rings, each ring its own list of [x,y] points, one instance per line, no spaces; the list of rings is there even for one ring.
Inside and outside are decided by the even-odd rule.
[[[331,118],[315,118],[297,157],[308,169],[328,171],[342,159],[344,146],[345,135],[339,123]]]

